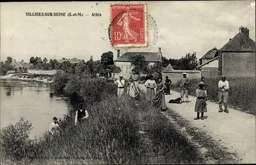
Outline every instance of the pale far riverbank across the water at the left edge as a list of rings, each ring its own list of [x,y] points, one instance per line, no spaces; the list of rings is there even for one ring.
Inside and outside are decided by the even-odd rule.
[[[4,76],[0,76],[0,79],[17,79],[24,81],[37,81],[44,82],[46,84],[51,84],[53,82],[52,75],[39,75],[39,74],[28,74],[28,73],[14,73]]]

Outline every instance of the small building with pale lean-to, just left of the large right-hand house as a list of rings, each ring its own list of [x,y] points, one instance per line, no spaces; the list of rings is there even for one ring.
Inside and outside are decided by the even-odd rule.
[[[219,61],[218,57],[215,57],[218,49],[216,47],[210,49],[204,56],[199,59],[200,65],[197,70],[201,70],[201,76],[204,77],[218,77]]]

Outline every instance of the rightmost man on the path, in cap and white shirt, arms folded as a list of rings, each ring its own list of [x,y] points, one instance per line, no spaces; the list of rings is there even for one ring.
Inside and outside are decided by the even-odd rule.
[[[221,76],[221,80],[219,80],[219,112],[223,112],[222,103],[224,104],[224,112],[228,113],[227,109],[227,100],[228,100],[228,89],[229,83],[226,80],[226,76]]]

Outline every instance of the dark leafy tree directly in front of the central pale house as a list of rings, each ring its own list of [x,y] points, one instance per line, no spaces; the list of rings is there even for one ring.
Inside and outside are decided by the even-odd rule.
[[[135,56],[130,58],[131,65],[136,69],[139,73],[146,74],[148,72],[148,66],[150,65],[144,56],[137,53]]]

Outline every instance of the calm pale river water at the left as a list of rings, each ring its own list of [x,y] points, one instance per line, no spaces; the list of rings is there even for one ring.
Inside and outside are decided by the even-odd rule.
[[[1,79],[0,92],[1,128],[24,117],[34,127],[30,139],[47,131],[54,116],[63,120],[73,109],[69,98],[54,95],[50,85],[40,82]]]

